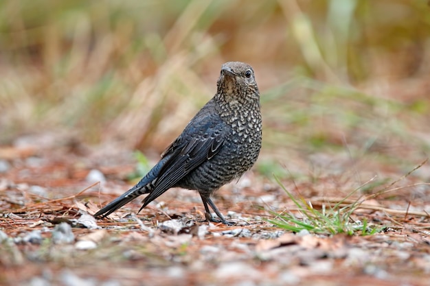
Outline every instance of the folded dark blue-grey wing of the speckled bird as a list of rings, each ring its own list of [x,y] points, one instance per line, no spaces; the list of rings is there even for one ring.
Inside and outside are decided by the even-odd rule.
[[[221,150],[225,141],[224,134],[218,132],[208,134],[210,131],[207,130],[206,136],[195,136],[186,142],[183,142],[183,137],[180,137],[170,145],[163,155],[170,158],[160,169],[155,187],[144,199],[142,208]]]

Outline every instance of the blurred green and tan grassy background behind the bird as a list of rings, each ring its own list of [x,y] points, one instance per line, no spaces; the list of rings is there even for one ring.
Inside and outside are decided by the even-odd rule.
[[[1,1],[0,145],[53,132],[162,152],[227,61],[256,71],[262,174],[427,158],[425,0]]]

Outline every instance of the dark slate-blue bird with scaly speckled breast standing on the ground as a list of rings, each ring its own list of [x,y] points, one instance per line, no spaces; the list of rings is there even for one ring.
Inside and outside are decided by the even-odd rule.
[[[180,187],[199,192],[207,221],[234,224],[220,213],[211,195],[256,163],[262,145],[260,92],[252,67],[244,62],[225,62],[216,86],[214,97],[166,148],[146,176],[94,217],[106,217],[148,194],[140,212],[168,189]],[[209,206],[218,219],[212,217]]]

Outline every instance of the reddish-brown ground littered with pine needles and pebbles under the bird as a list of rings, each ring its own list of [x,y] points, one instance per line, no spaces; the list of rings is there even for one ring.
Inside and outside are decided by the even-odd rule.
[[[351,220],[367,219],[380,228],[374,235],[292,233],[267,222],[271,211],[298,213],[288,195],[249,172],[214,198],[234,226],[205,222],[198,195],[181,189],[138,215],[135,200],[95,220],[92,213],[130,186],[131,152],[54,140],[1,147],[0,157],[8,163],[0,180],[1,285],[429,285],[424,196],[409,205],[398,193],[363,202]],[[330,189],[332,180],[284,178],[315,208],[339,202],[335,187],[324,198],[310,191]],[[411,184],[420,182],[411,175],[391,189]]]

